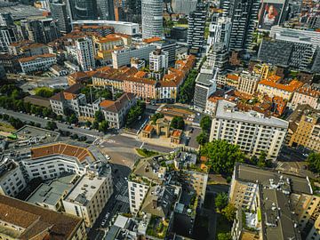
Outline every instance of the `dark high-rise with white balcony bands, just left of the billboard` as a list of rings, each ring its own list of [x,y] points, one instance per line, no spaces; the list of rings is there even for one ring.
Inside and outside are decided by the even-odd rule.
[[[231,18],[229,49],[248,50],[258,20],[260,0],[221,0],[222,16]]]

